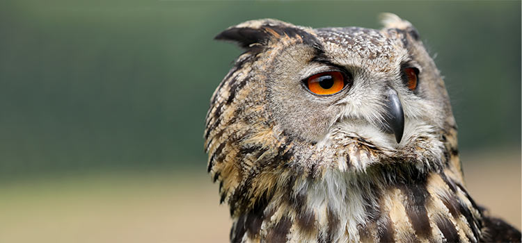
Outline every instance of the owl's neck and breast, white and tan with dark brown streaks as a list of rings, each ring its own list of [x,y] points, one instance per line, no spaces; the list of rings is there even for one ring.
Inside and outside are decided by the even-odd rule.
[[[273,193],[235,217],[231,240],[476,242],[481,212],[459,168],[447,165],[439,171],[377,165],[364,174],[327,169],[315,179],[287,174]]]

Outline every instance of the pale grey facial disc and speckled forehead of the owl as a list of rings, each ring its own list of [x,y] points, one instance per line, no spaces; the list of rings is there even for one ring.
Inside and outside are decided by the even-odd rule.
[[[324,142],[342,130],[388,150],[443,128],[447,97],[432,89],[440,78],[425,72],[431,59],[414,37],[393,29],[323,28],[313,33],[310,44],[283,42],[266,56],[270,68],[263,79],[274,124],[310,142]],[[393,98],[397,110],[390,110]],[[404,126],[397,128],[404,134],[390,131],[388,118],[394,115],[404,117],[397,125]]]

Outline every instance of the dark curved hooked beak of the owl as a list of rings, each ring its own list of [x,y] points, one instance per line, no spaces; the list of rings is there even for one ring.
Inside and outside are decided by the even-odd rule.
[[[393,87],[388,87],[386,90],[386,114],[384,128],[386,133],[393,133],[397,144],[402,140],[402,133],[404,132],[404,111],[402,104],[397,95],[397,91]]]

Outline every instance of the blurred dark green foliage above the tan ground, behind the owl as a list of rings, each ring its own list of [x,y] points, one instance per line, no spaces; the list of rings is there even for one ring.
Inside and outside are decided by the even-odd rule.
[[[248,19],[379,28],[412,22],[445,76],[461,149],[521,143],[520,1],[3,1],[0,176],[204,171],[209,97]],[[203,172],[204,173],[204,172]]]

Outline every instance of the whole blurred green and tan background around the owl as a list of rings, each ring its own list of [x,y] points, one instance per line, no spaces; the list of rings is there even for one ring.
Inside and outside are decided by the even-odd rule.
[[[520,1],[3,1],[0,242],[227,240],[203,129],[242,51],[212,38],[266,17],[379,28],[380,12],[436,56],[468,187],[520,228]]]

